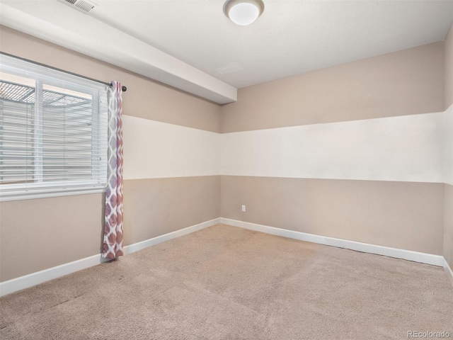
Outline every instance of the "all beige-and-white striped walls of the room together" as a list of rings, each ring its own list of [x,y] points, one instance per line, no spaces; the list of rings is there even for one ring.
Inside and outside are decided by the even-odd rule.
[[[121,81],[125,245],[224,217],[453,267],[453,33],[217,106],[0,28],[1,51]],[[246,212],[241,212],[246,205]],[[0,203],[0,281],[99,254],[103,195]]]

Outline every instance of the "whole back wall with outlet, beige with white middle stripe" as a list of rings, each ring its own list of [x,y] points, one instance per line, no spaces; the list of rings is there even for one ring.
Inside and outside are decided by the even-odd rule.
[[[437,42],[240,89],[222,217],[442,255],[444,62]]]

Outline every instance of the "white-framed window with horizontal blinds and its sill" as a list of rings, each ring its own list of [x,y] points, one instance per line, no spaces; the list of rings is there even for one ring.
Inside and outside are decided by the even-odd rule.
[[[103,191],[106,86],[0,56],[0,199]]]

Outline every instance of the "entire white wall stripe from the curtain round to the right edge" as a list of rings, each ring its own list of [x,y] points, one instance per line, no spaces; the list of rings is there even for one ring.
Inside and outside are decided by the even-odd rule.
[[[222,174],[453,185],[453,106],[445,113],[226,134],[124,120],[125,179]]]

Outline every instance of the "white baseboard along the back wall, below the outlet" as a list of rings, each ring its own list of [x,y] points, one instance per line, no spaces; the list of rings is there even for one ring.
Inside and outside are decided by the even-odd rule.
[[[338,246],[338,248],[351,249],[362,251],[364,253],[378,254],[394,257],[396,259],[404,259],[420,263],[431,264],[432,266],[445,266],[445,259],[440,255],[432,255],[419,253],[418,251],[390,248],[388,246],[377,246],[375,244],[367,244],[347,239],[336,239],[333,237],[319,236],[315,234],[306,234],[305,232],[294,232],[292,230],[268,227],[267,225],[256,225],[255,223],[243,222],[238,220],[230,220],[228,218],[220,218],[220,222],[225,225],[241,227],[244,229],[254,230],[256,232],[265,232],[290,239],[299,239],[301,241],[325,244],[327,246]]]

